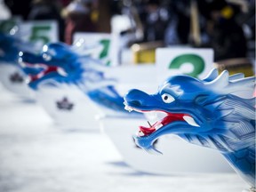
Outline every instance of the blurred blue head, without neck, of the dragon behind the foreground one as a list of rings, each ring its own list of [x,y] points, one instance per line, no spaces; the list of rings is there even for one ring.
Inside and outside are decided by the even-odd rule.
[[[28,85],[36,90],[39,84],[52,82],[71,84],[81,82],[89,73],[102,76],[102,71],[92,69],[100,66],[97,60],[80,57],[72,46],[64,43],[45,44],[39,54],[20,52],[20,65],[29,76]],[[98,65],[97,65],[98,64]],[[34,70],[31,70],[34,68]],[[35,72],[35,68],[37,69]],[[86,72],[86,73],[85,73]]]

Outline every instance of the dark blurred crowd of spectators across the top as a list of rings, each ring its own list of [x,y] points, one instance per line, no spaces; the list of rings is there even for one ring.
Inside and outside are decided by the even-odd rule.
[[[73,43],[76,32],[117,32],[121,48],[132,48],[134,44],[140,44],[140,50],[159,46],[209,47],[214,50],[214,61],[224,64],[229,59],[255,58],[254,0],[1,2],[5,12],[0,15],[2,19],[18,15],[23,20],[57,20],[59,39],[67,44]],[[245,66],[250,61],[237,62]]]

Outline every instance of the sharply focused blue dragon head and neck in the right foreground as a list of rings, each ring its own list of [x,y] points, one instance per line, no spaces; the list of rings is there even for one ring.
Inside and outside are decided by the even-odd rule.
[[[127,110],[141,113],[161,111],[162,120],[140,126],[136,144],[148,152],[160,153],[154,141],[164,134],[176,134],[190,143],[217,149],[235,170],[253,185],[255,180],[255,77],[228,75],[217,69],[203,80],[192,76],[171,76],[156,94],[131,90],[124,96]],[[241,160],[241,161],[239,161]]]

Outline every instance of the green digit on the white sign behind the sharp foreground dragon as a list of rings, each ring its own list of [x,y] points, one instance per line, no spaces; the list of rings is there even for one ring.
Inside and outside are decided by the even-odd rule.
[[[196,54],[182,54],[177,56],[171,61],[169,68],[179,69],[185,63],[186,64],[189,63],[193,66],[193,70],[191,72],[185,73],[188,76],[197,77],[204,71],[204,67],[205,67],[204,60],[202,57]]]

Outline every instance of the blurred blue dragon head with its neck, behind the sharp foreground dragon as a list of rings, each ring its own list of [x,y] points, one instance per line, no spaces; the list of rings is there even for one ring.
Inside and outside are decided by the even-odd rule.
[[[20,65],[24,70],[43,68],[30,76],[29,87],[40,84],[76,84],[92,101],[112,112],[125,114],[124,98],[116,92],[116,80],[104,76],[108,67],[100,60],[76,53],[76,47],[64,43],[45,44],[40,54],[20,52]],[[108,113],[110,112],[108,111]],[[136,113],[136,116],[141,116]]]

